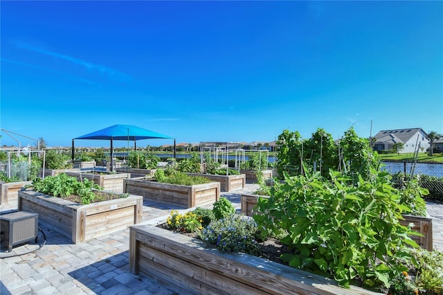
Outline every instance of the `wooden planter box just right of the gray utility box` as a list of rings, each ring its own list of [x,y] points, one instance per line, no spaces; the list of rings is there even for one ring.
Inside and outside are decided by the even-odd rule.
[[[19,211],[38,213],[39,222],[77,244],[141,222],[143,198],[129,196],[82,205],[35,190],[20,190]]]

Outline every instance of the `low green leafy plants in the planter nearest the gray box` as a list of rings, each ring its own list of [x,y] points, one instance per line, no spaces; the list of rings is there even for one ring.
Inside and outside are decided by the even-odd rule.
[[[93,189],[101,189],[100,186],[94,184],[89,179],[80,182],[75,177],[70,177],[65,173],[60,173],[54,177],[46,177],[45,179],[35,179],[33,181],[34,190],[39,193],[51,195],[54,197],[69,197],[78,195],[82,200],[82,204],[90,204],[94,201],[96,195]]]

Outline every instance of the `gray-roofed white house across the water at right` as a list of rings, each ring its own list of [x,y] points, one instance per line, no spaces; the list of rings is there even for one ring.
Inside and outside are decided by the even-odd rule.
[[[395,143],[404,144],[400,153],[415,152],[417,145],[420,148],[419,152],[426,151],[429,147],[428,134],[422,128],[381,130],[374,138],[376,138],[373,145],[375,151],[392,150]]]

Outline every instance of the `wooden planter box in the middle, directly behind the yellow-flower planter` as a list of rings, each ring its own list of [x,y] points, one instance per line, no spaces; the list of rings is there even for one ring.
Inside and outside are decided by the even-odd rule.
[[[155,202],[175,204],[192,208],[213,204],[220,198],[220,183],[179,186],[163,184],[147,179],[125,179],[125,193],[141,195]]]

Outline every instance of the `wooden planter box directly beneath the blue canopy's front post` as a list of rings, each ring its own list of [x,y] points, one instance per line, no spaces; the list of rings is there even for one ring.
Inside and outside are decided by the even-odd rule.
[[[111,173],[106,171],[66,171],[66,174],[77,177],[80,181],[81,179],[87,178],[104,188],[104,190],[116,194],[123,193],[125,179],[131,177],[131,175],[127,173]]]

